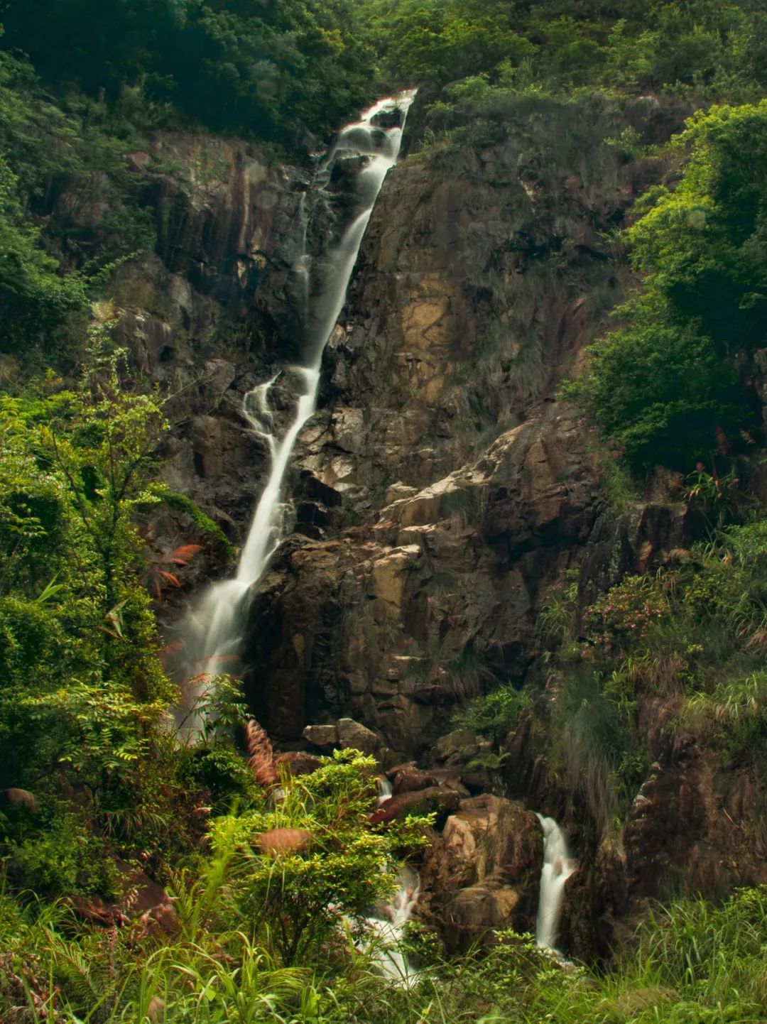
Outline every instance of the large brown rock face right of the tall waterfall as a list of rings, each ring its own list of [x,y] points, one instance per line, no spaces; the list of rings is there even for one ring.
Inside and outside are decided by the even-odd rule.
[[[248,630],[249,698],[285,740],[350,715],[425,754],[456,705],[528,671],[538,613],[602,521],[605,454],[553,398],[631,284],[602,236],[664,172],[606,139],[657,119],[545,114],[512,110],[457,160],[409,157],[374,210],[297,449],[300,537]]]

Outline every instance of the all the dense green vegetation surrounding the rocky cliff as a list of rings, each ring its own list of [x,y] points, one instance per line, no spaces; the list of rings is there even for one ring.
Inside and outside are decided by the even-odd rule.
[[[305,159],[377,83],[418,82],[425,148],[452,161],[529,97],[565,117],[579,90],[705,108],[668,151],[679,179],[633,211],[623,241],[642,286],[569,393],[640,482],[676,472],[711,538],[657,575],[552,603],[546,753],[595,835],[644,775],[654,699],[763,780],[767,531],[749,486],[767,331],[763,4],[9,0],[0,18],[0,1020],[764,1019],[761,890],[658,910],[604,977],[509,934],[446,958],[417,929],[418,982],[381,977],[363,920],[430,822],[373,824],[375,765],[353,754],[280,775],[225,677],[195,742],[169,727],[153,596],[173,566],[142,530],[160,502],[203,517],[156,481],[164,396],[116,350],[110,302],[115,269],[156,243],[125,155],[158,127]],[[84,226],[57,199],[95,180],[102,210]],[[503,768],[539,695],[504,686],[461,714],[498,749],[479,767]],[[172,906],[132,914],[148,878]]]

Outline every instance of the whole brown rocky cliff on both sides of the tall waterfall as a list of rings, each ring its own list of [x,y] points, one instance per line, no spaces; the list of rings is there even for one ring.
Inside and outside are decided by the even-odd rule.
[[[453,946],[494,924],[531,927],[540,830],[520,806],[471,797],[483,790],[576,830],[566,932],[582,953],[604,954],[664,877],[705,890],[764,881],[759,841],[741,824],[752,783],[658,731],[673,708],[643,711],[655,760],[619,838],[595,830],[546,771],[555,682],[508,738],[503,774],[468,767],[469,737],[448,755],[445,795],[434,754],[467,698],[509,680],[543,684],[537,622],[568,570],[594,596],[668,561],[698,529],[663,489],[611,511],[600,483],[610,454],[557,399],[633,284],[615,230],[673,174],[643,146],[685,113],[651,98],[523,98],[411,141],[326,350],[321,410],[294,461],[293,529],[251,606],[246,692],[278,741],[300,749],[307,725],[351,717],[384,764],[427,769],[412,792],[448,824],[424,912]],[[423,136],[419,117],[415,108]],[[121,271],[118,333],[173,395],[167,481],[238,543],[266,458],[242,398],[296,356],[296,259],[322,226],[306,217],[309,175],[197,136],[159,135],[131,160],[160,244]],[[160,547],[200,539],[178,512],[147,529]],[[187,586],[222,570],[223,551],[206,551]],[[459,856],[466,837],[491,853]],[[446,885],[451,857],[461,864]]]

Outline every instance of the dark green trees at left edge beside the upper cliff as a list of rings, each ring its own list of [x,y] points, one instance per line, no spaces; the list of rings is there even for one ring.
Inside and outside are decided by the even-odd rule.
[[[124,160],[135,131],[121,117],[119,104],[55,103],[29,63],[0,50],[0,352],[25,366],[71,355],[88,294],[154,247],[152,214]],[[86,189],[102,213],[78,215]],[[66,191],[70,202],[56,204]]]

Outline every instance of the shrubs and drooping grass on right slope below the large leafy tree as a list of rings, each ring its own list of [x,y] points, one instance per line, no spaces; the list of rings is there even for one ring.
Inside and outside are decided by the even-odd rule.
[[[673,699],[676,730],[712,757],[767,769],[767,521],[720,531],[656,575],[627,575],[555,639],[551,767],[580,794],[598,829],[626,810],[647,765],[640,709]],[[564,615],[564,618],[563,618]]]

